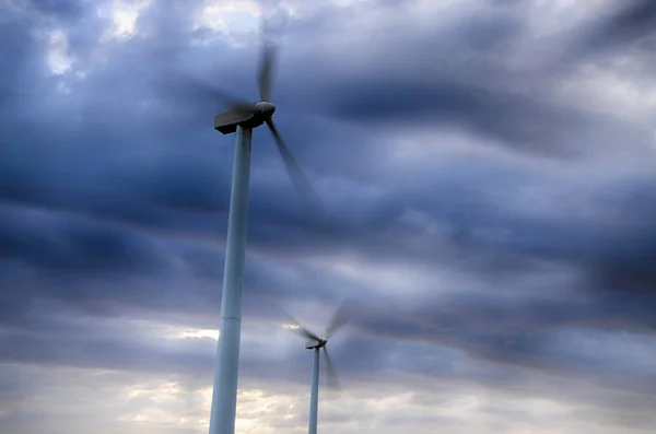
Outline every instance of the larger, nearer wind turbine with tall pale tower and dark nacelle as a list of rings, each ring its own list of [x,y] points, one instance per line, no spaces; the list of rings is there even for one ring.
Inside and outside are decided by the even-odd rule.
[[[186,80],[186,85],[192,87],[186,87],[187,90],[200,91],[206,96],[232,105],[230,109],[214,116],[214,129],[223,134],[236,133],[225,242],[220,338],[216,345],[209,434],[234,434],[235,432],[242,333],[242,282],[246,254],[248,185],[254,129],[263,124],[267,125],[273,134],[273,140],[291,176],[292,184],[301,196],[305,211],[313,216],[323,212],[317,195],[273,122],[276,106],[271,103],[271,90],[276,57],[276,48],[271,44],[262,44],[257,73],[259,102],[244,101],[213,85],[198,81],[190,83]]]

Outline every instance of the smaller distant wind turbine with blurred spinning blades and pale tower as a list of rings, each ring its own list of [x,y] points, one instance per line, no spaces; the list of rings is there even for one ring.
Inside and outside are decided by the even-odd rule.
[[[313,365],[312,365],[312,384],[309,389],[309,424],[308,424],[308,434],[317,434],[317,422],[319,414],[319,352],[324,350],[324,359],[326,360],[326,373],[328,374],[328,385],[336,388],[341,389],[339,386],[339,380],[337,379],[337,372],[335,371],[335,366],[332,365],[332,361],[330,360],[330,355],[328,354],[328,339],[342,326],[347,324],[347,316],[343,305],[337,309],[332,319],[330,320],[328,327],[326,328],[326,332],[323,338],[319,338],[316,333],[309,331],[307,328],[303,327],[297,320],[292,318],[289,314],[286,316],[294,322],[297,327],[295,330],[300,332],[305,338],[309,339],[309,342],[305,343],[306,350],[313,351]]]

